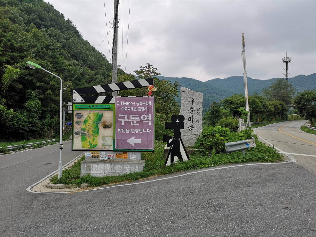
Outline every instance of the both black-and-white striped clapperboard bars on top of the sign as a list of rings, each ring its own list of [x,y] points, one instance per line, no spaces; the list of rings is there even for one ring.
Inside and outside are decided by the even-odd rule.
[[[72,103],[93,103],[93,104],[114,104],[114,96],[84,96],[87,94],[97,94],[102,92],[112,92],[142,88],[154,85],[153,78],[146,78],[127,82],[111,83],[106,85],[90,86],[71,90]]]

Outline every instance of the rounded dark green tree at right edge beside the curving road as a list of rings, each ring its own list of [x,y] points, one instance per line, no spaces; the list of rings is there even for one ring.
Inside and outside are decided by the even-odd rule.
[[[316,90],[304,90],[299,93],[294,99],[294,108],[313,126],[313,120],[316,120]]]

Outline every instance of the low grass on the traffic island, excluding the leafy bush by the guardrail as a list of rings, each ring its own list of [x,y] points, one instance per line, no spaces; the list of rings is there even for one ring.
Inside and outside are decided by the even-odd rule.
[[[237,135],[234,135],[237,136]],[[234,137],[232,136],[232,137]],[[255,136],[256,147],[246,150],[246,155],[237,151],[234,153],[206,153],[198,150],[190,156],[190,160],[179,161],[170,166],[165,167],[165,159],[163,157],[165,143],[155,141],[155,151],[142,152],[142,159],[145,160],[145,167],[142,172],[129,173],[119,176],[94,177],[85,175],[80,177],[80,164],[84,160],[82,157],[75,165],[63,171],[62,177],[58,179],[58,175],[51,178],[52,184],[76,184],[88,183],[90,186],[102,186],[107,184],[115,184],[120,182],[130,182],[139,179],[149,178],[158,175],[176,173],[185,170],[194,170],[200,168],[210,168],[224,164],[246,163],[246,162],[276,162],[282,161],[283,157],[272,147],[267,147],[264,143],[258,141]]]

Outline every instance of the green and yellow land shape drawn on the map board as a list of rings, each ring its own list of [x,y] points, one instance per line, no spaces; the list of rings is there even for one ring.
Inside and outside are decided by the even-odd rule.
[[[93,149],[98,146],[99,127],[103,117],[102,112],[89,113],[83,120],[81,128],[82,148]]]

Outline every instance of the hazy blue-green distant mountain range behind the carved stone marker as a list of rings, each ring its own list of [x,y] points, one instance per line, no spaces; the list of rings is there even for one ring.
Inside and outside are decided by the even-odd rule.
[[[202,92],[203,107],[209,107],[213,100],[218,102],[235,93],[245,94],[243,76],[230,76],[225,79],[216,78],[206,82],[201,82],[187,77],[158,77],[170,82],[177,81],[183,87],[197,92]],[[247,77],[248,94],[253,94],[253,92],[257,92],[259,94],[264,87],[269,87],[271,82],[275,82],[276,79],[277,78],[258,80]],[[316,73],[308,76],[295,76],[293,78],[289,78],[289,82],[291,82],[292,85],[296,87],[297,92],[301,92],[306,89],[313,89],[316,88]],[[177,98],[177,101],[181,101],[180,97]]]

